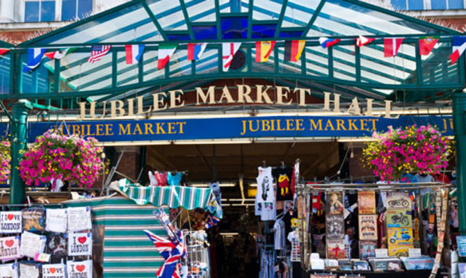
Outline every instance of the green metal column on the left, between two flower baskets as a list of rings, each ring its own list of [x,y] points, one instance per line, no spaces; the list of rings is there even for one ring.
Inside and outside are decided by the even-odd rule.
[[[19,175],[20,152],[26,149],[27,145],[27,122],[28,113],[32,108],[31,102],[26,99],[19,99],[11,106],[13,122],[11,132],[11,174],[10,174],[10,204],[24,204],[26,190],[24,182]]]

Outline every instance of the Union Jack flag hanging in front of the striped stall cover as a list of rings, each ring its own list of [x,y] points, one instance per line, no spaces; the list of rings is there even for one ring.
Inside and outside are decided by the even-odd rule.
[[[157,271],[157,278],[179,278],[179,259],[184,256],[186,248],[184,247],[182,237],[179,236],[179,243],[154,235],[152,232],[144,230],[145,234],[152,240],[155,248],[165,259],[165,263]]]

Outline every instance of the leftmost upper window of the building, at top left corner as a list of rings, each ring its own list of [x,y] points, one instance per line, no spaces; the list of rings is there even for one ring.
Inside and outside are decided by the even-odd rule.
[[[55,0],[26,0],[24,22],[55,21]]]

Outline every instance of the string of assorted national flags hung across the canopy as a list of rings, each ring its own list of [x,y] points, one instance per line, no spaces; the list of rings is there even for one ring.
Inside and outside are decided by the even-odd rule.
[[[376,38],[367,38],[362,35],[355,39],[357,47],[363,47],[376,40]],[[398,54],[404,38],[384,38],[383,39],[383,52],[385,57],[394,57]],[[440,37],[421,37],[419,38],[419,54],[421,56],[428,56],[433,51],[435,44],[437,44]],[[334,47],[341,42],[340,39],[332,38],[319,38],[319,44],[324,49]],[[256,62],[265,63],[271,56],[275,47],[276,41],[259,41],[256,42]],[[306,40],[291,40],[284,42],[284,60],[287,62],[298,62],[303,53]],[[178,44],[159,44],[157,69],[161,70],[168,64],[168,61],[175,54]],[[203,43],[188,43],[188,60],[200,60],[207,47],[207,42]],[[232,60],[236,52],[241,47],[241,42],[223,42],[222,43],[222,60],[223,71],[227,72],[230,69]],[[61,59],[76,50],[74,48],[65,48],[58,51],[49,51],[42,48],[28,49],[28,61],[24,66],[23,72],[31,72],[38,65],[40,65],[42,58]],[[144,44],[128,44],[125,46],[126,63],[128,65],[137,64],[143,56],[145,49]],[[453,36],[452,53],[450,55],[451,65],[455,64],[458,58],[464,53],[466,49],[466,36]],[[90,56],[87,59],[88,63],[97,63],[104,58],[111,50],[111,45],[96,45],[91,47]],[[1,49],[0,56],[6,54],[10,49]]]

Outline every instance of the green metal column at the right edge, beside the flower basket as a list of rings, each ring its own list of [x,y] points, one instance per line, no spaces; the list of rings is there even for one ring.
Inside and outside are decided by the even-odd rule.
[[[456,187],[460,234],[466,234],[466,93],[453,95],[453,124],[456,140]]]

